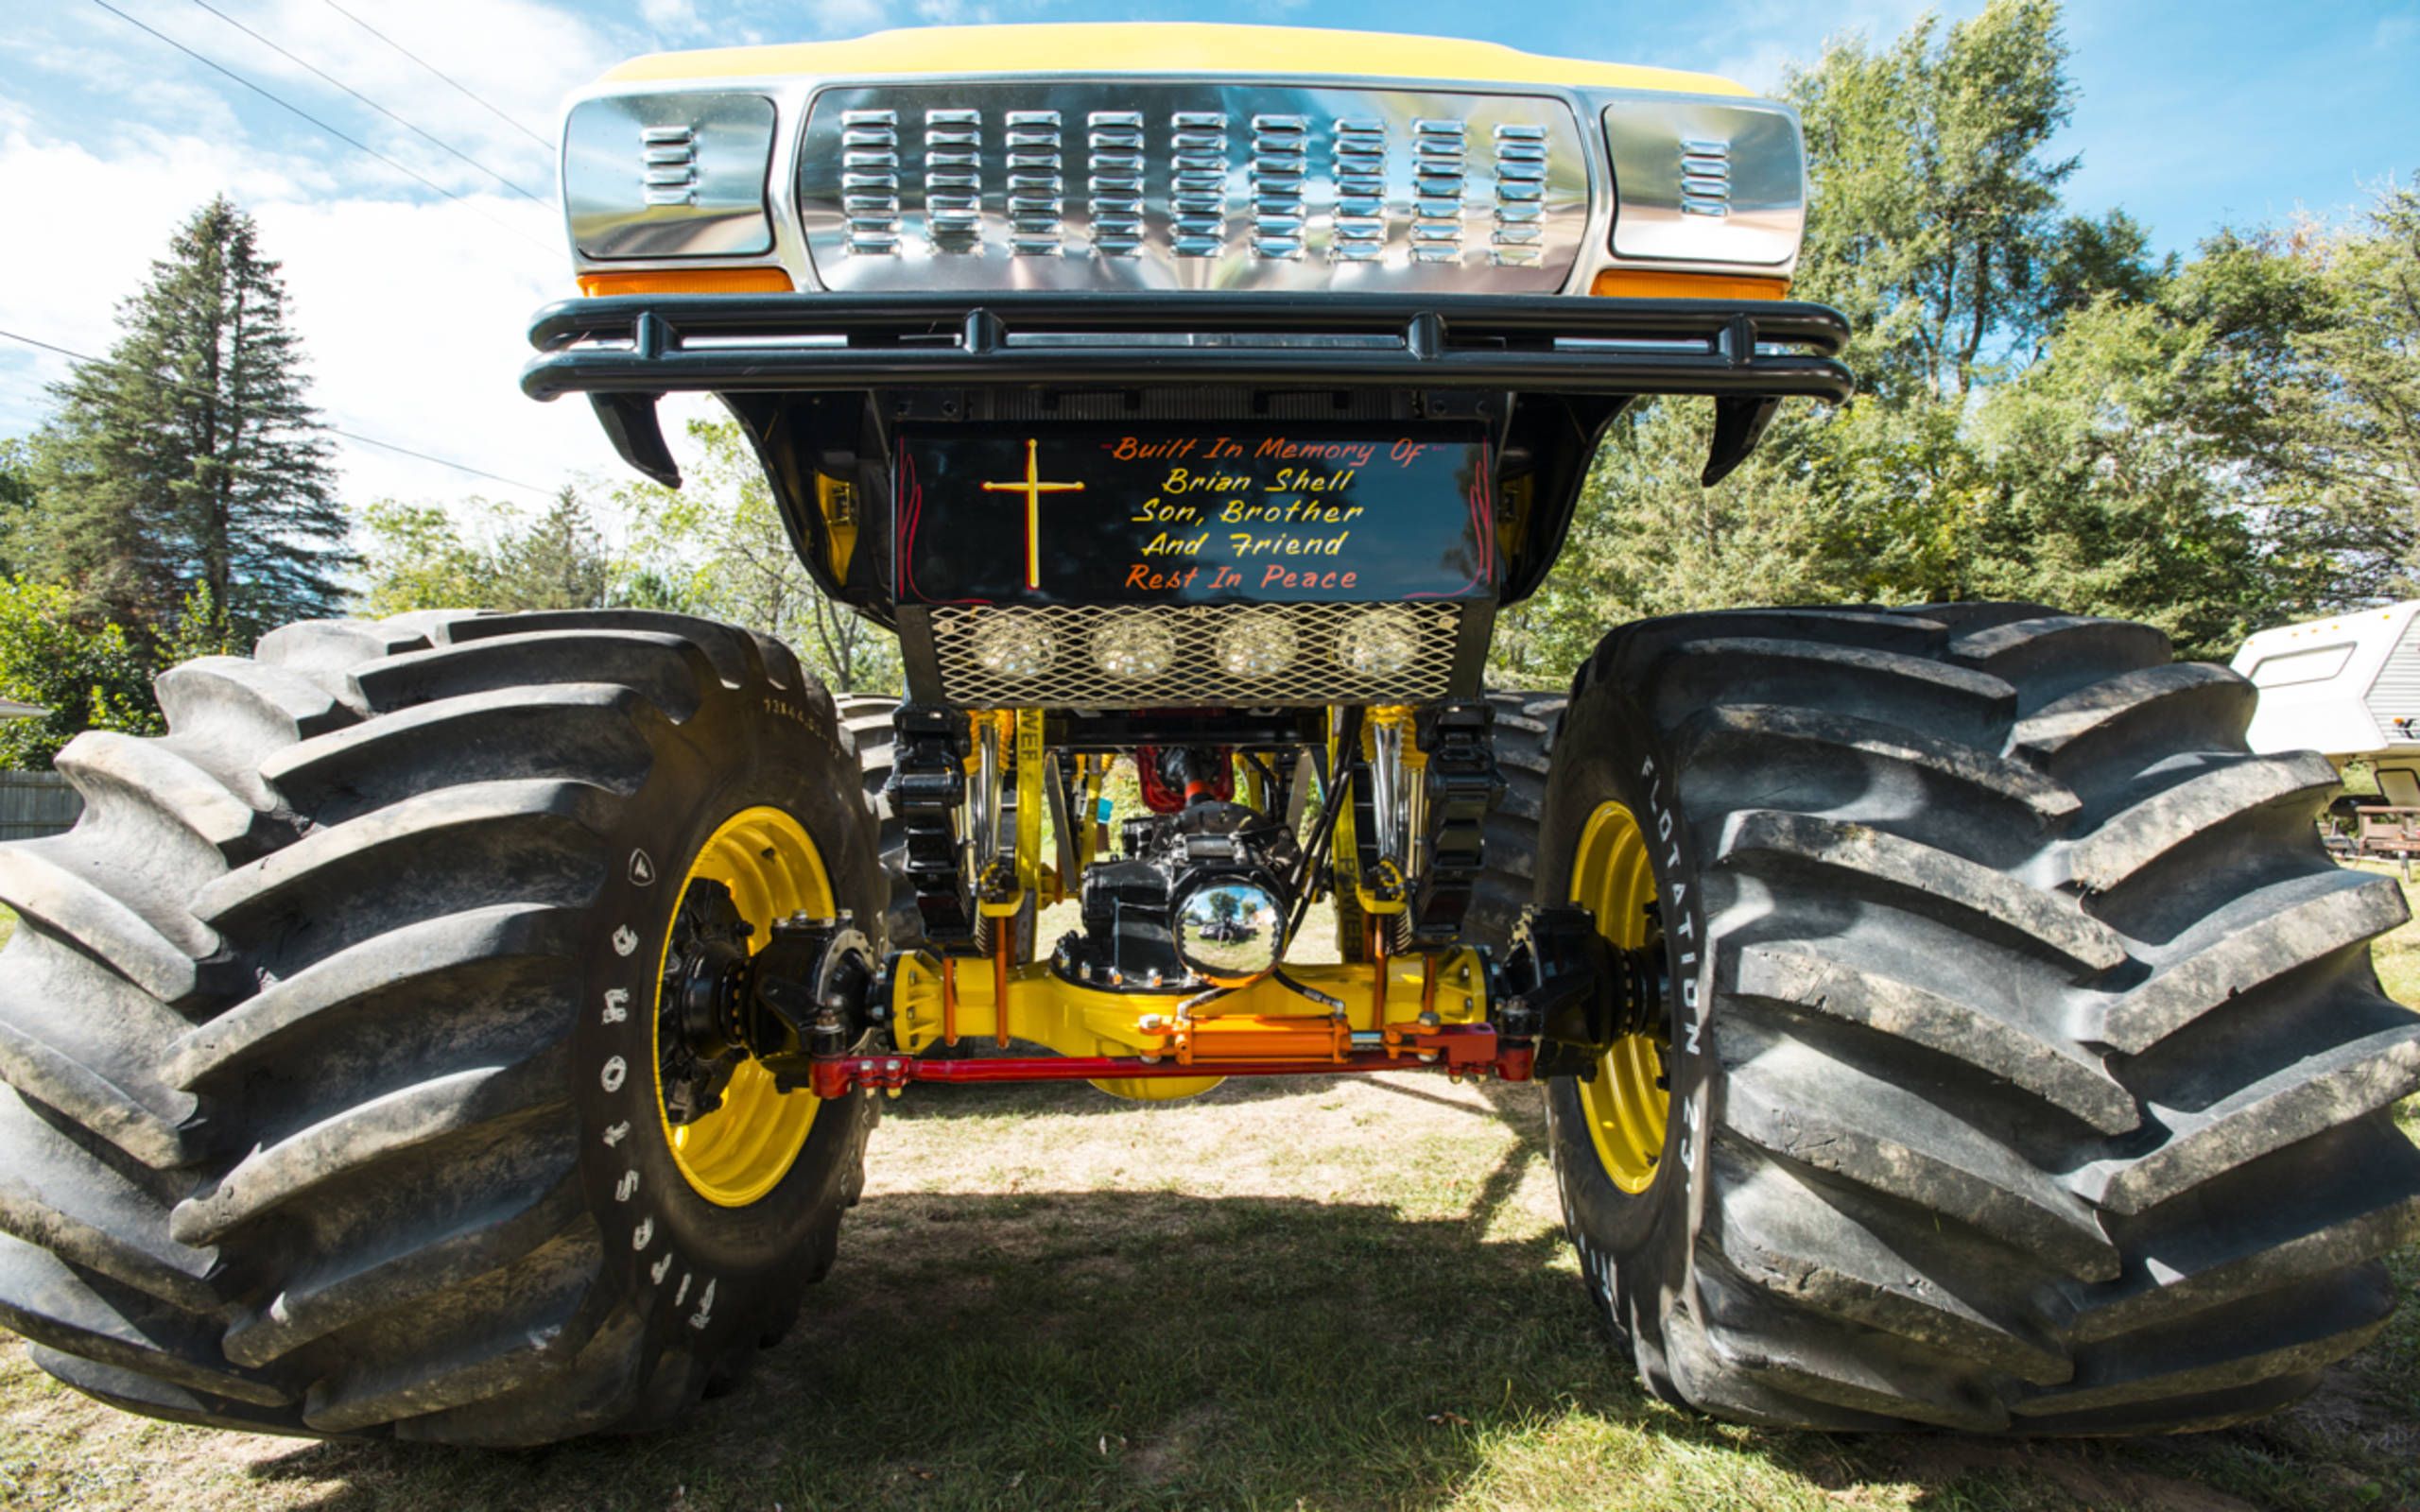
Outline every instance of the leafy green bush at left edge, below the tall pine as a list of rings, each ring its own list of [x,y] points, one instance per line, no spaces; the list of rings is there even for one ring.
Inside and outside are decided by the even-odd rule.
[[[48,769],[85,731],[165,728],[126,631],[80,624],[75,595],[53,583],[0,581],[0,697],[44,709],[0,721],[0,767],[15,772]]]

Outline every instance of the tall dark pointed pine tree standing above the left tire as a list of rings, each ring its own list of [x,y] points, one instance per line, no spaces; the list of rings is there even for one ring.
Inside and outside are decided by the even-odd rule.
[[[227,198],[196,210],[119,327],[106,363],[53,389],[48,573],[152,646],[196,588],[242,636],[336,612],[346,518],[252,218]]]

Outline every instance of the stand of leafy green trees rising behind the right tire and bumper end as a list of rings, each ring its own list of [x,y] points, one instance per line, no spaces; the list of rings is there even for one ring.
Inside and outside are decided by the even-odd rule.
[[[1554,685],[1609,624],[1750,602],[2028,598],[2224,656],[2413,561],[2420,457],[2391,421],[2413,433],[2420,387],[2376,358],[2415,351],[2410,227],[2389,208],[2357,244],[2154,256],[2125,213],[2059,201],[2064,65],[2057,5],[1994,0],[1791,75],[1813,191],[1793,293],[1849,314],[1863,392],[1784,406],[1716,489],[1704,402],[1617,421],[1563,561],[1503,617],[1498,677]]]

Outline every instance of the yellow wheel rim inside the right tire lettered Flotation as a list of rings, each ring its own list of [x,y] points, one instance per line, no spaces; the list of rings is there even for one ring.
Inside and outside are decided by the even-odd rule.
[[[1571,900],[1597,917],[1597,934],[1614,946],[1636,951],[1648,943],[1646,910],[1655,902],[1655,868],[1638,820],[1621,803],[1600,803],[1588,815],[1571,866]],[[1614,1185],[1626,1193],[1648,1190],[1672,1113],[1665,1048],[1650,1035],[1614,1040],[1597,1062],[1595,1081],[1580,1081],[1580,1110]]]

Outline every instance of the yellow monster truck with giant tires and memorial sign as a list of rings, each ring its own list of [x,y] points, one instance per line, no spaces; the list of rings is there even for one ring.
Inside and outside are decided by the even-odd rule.
[[[891,31],[617,68],[561,172],[581,298],[523,387],[663,484],[658,399],[721,397],[905,697],[680,614],[445,612],[278,629],[68,748],[82,823],[0,849],[0,1321],[60,1381],[653,1425],[811,1297],[876,1091],[1033,1079],[1537,1081],[1617,1350],[1747,1422],[2207,1427],[2393,1309],[2405,910],[2241,677],[1958,602],[1483,687],[1624,406],[1711,399],[1711,484],[1849,397],[1786,298],[1786,106]],[[1314,907],[1343,960],[1290,958]]]

